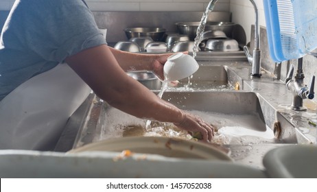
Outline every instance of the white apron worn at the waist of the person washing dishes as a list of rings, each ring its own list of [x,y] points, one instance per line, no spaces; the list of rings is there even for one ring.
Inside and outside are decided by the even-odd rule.
[[[90,92],[67,64],[27,80],[0,101],[0,149],[51,148]]]

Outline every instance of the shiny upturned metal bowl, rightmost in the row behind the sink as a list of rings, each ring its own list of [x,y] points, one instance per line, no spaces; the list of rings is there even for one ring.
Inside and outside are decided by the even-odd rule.
[[[207,40],[205,49],[207,51],[239,51],[237,40],[226,39],[209,39]]]

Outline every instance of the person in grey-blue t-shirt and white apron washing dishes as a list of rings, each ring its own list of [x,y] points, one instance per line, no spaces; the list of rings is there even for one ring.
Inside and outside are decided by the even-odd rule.
[[[130,70],[148,70],[163,79],[169,55],[108,47],[82,0],[16,0],[0,40],[0,149],[48,148],[52,135],[60,134],[89,93],[86,84],[130,115],[201,132],[206,142],[213,137],[211,125],[159,99],[126,75]],[[18,114],[16,119],[9,116],[12,113]]]

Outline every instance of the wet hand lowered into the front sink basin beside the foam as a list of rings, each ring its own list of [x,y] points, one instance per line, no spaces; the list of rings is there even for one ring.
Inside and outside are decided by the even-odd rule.
[[[202,134],[202,141],[205,142],[211,142],[211,139],[215,136],[215,128],[212,125],[204,122],[200,117],[189,113],[184,113],[183,121],[174,123],[174,125],[187,132],[200,132]]]

